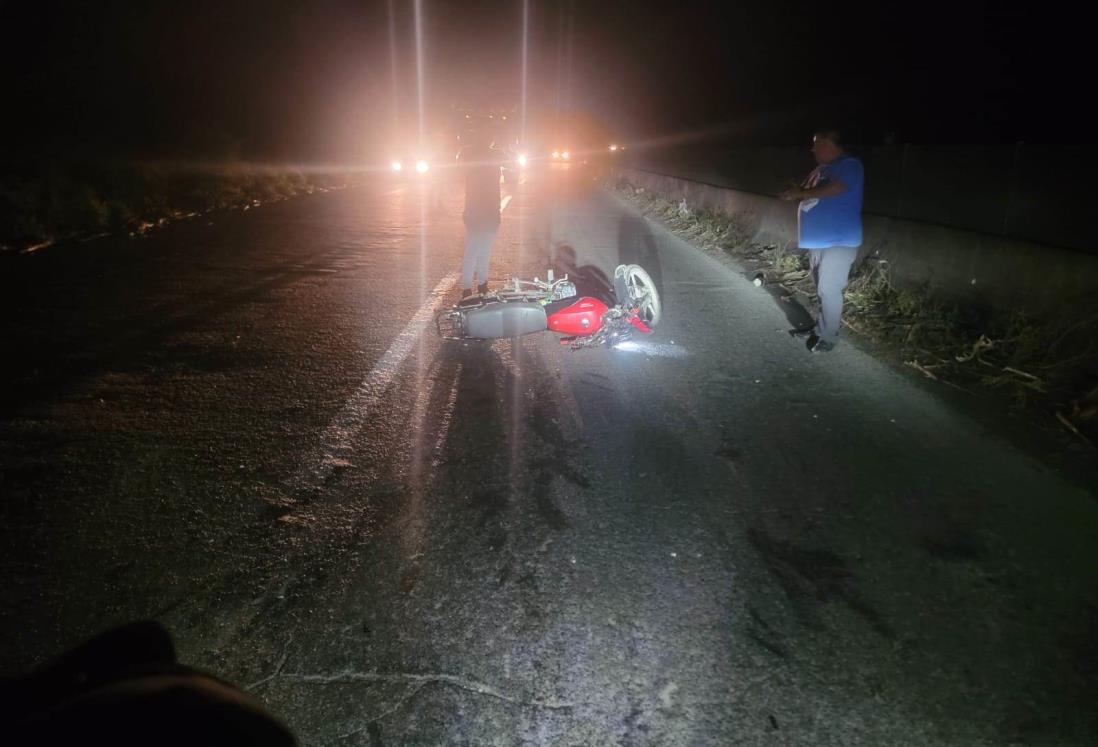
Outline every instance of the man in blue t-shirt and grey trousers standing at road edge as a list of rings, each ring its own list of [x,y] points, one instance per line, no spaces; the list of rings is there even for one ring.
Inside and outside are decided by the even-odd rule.
[[[842,320],[842,291],[862,245],[862,161],[842,147],[837,130],[813,138],[818,166],[800,187],[782,192],[783,200],[798,200],[797,244],[807,249],[820,312],[811,330],[793,330],[806,337],[808,349],[824,353],[834,347]]]

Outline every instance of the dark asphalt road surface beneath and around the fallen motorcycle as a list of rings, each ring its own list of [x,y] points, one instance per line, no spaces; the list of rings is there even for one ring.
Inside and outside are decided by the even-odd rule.
[[[637,263],[657,333],[439,341],[461,196],[384,180],[5,259],[0,671],[156,618],[306,745],[1098,740],[1085,465],[506,191],[497,281]]]

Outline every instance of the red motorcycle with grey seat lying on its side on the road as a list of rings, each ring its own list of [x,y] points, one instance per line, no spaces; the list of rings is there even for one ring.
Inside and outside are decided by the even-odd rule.
[[[614,289],[605,300],[578,296],[575,283],[553,279],[512,278],[498,291],[461,299],[438,313],[435,325],[446,339],[505,339],[535,332],[563,335],[573,349],[624,343],[634,332],[651,334],[660,322],[660,294],[639,265],[618,265]]]

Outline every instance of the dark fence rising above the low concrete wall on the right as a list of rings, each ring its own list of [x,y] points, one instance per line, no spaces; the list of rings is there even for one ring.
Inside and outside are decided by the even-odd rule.
[[[1098,254],[1090,182],[1098,148],[1071,145],[892,145],[853,148],[865,210]],[[807,147],[703,144],[631,154],[628,166],[776,197],[815,166]]]

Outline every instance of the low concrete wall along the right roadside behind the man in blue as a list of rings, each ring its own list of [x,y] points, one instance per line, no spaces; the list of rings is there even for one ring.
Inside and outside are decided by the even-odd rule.
[[[626,168],[637,187],[691,209],[719,210],[754,241],[795,247],[796,204],[680,177]],[[1047,316],[1098,302],[1098,255],[942,225],[865,214],[861,257],[887,259],[893,281],[927,286],[937,297]]]

